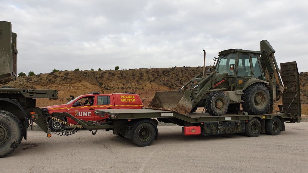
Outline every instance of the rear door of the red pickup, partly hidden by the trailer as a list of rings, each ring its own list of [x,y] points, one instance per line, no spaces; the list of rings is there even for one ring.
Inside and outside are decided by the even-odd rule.
[[[113,109],[113,108],[114,108],[114,100],[111,94],[97,96],[95,110]],[[106,118],[95,115],[95,121],[100,121],[103,119],[106,119]]]

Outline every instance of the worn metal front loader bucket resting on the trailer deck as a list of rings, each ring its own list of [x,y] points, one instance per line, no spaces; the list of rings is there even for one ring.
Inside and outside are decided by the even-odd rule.
[[[192,110],[192,103],[187,90],[159,91],[145,108],[175,111],[186,115]]]

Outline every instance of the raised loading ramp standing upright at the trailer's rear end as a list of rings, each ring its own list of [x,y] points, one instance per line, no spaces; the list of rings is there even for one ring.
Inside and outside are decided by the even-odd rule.
[[[296,61],[281,63],[280,67],[283,84],[288,88],[287,91],[282,94],[282,109],[285,112],[291,104],[287,113],[300,116],[302,115],[302,107]],[[300,117],[298,117],[298,122],[299,118]]]

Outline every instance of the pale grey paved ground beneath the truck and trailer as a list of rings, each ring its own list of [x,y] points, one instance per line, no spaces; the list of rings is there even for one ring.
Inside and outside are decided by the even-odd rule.
[[[160,126],[159,141],[137,147],[130,140],[87,130],[68,137],[29,131],[28,141],[0,159],[0,172],[308,172],[308,122],[286,124],[278,136],[184,136]]]

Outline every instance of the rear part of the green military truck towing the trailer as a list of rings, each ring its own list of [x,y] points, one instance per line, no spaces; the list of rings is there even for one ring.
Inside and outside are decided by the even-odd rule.
[[[17,53],[17,34],[10,22],[0,21],[0,84],[16,79]],[[58,99],[58,91],[0,88],[0,157],[14,151],[22,138],[27,140],[27,128],[33,122],[50,134],[41,109],[35,106],[38,98]]]

